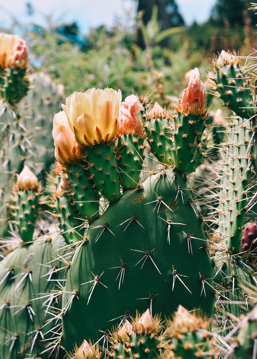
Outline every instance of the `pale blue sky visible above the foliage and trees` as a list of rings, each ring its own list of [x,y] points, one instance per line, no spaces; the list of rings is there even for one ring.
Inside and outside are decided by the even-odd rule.
[[[9,27],[14,17],[21,23],[34,22],[44,25],[44,15],[53,15],[58,23],[76,21],[83,33],[90,27],[102,24],[111,27],[114,19],[136,11],[135,0],[30,0],[36,9],[33,17],[26,15],[26,0],[0,0],[0,24]],[[177,0],[186,24],[208,19],[216,0]],[[59,21],[58,21],[59,18]]]

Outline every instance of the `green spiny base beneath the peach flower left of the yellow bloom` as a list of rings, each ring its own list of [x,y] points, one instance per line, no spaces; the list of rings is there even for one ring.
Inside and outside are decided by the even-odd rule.
[[[82,164],[75,163],[67,166],[67,174],[71,181],[71,192],[80,216],[88,220],[97,217],[99,215],[100,196],[87,169]]]

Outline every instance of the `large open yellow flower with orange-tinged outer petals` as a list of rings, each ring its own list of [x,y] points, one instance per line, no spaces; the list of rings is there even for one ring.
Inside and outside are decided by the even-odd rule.
[[[73,92],[63,109],[76,140],[84,146],[112,141],[118,132],[121,90]]]

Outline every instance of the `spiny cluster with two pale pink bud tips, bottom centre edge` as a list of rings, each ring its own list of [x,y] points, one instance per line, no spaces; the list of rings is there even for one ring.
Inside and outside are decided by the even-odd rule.
[[[159,316],[152,317],[149,309],[136,314],[130,323],[127,319],[109,334],[111,358],[162,357],[165,351],[162,323]]]

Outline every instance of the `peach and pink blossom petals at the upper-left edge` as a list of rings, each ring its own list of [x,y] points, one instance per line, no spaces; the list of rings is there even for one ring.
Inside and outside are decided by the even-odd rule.
[[[26,41],[17,35],[0,33],[0,67],[26,69],[27,60]]]

